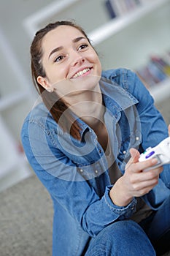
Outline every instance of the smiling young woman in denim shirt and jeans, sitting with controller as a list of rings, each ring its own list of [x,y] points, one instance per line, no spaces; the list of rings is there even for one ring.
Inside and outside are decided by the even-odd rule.
[[[128,69],[102,71],[69,21],[36,33],[31,71],[42,102],[21,137],[53,199],[53,255],[161,255],[169,249],[170,165],[144,171],[157,160],[139,162],[168,136],[150,93]]]

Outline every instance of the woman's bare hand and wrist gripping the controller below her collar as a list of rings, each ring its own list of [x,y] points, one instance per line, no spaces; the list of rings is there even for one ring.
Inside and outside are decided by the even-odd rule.
[[[139,162],[139,151],[131,148],[130,153],[131,159],[125,166],[124,175],[115,182],[109,194],[112,202],[117,206],[127,206],[133,197],[141,197],[150,192],[158,184],[159,174],[163,170],[163,167],[155,167],[152,170],[143,171],[155,165],[157,159]]]

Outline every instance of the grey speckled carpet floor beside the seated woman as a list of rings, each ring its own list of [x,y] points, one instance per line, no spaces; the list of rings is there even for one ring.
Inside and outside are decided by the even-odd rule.
[[[0,255],[50,256],[53,206],[38,178],[33,175],[1,192],[0,205]]]

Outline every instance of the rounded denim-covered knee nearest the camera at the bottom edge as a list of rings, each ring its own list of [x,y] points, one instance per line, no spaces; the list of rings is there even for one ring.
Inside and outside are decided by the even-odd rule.
[[[85,256],[155,256],[149,238],[136,222],[123,220],[104,228],[90,242]]]

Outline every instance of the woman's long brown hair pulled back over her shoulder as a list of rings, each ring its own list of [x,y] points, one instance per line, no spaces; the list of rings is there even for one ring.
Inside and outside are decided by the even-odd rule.
[[[47,109],[52,114],[54,120],[58,123],[60,117],[63,115],[62,119],[62,129],[66,132],[66,127],[71,127],[70,134],[80,140],[80,130],[81,127],[74,121],[71,111],[68,111],[68,107],[66,106],[63,99],[58,99],[58,96],[55,92],[48,92],[41,86],[36,78],[40,75],[43,78],[46,77],[45,69],[42,67],[42,39],[45,37],[49,31],[56,29],[58,26],[72,26],[75,29],[78,29],[82,34],[88,39],[85,31],[82,30],[80,26],[77,26],[75,23],[71,21],[56,21],[55,23],[49,23],[45,28],[40,29],[36,32],[33,42],[31,44],[31,75],[34,81],[34,86],[36,87],[36,91],[41,95],[43,102],[45,103]],[[90,43],[90,40],[88,39]],[[91,45],[91,44],[90,44]],[[67,110],[67,111],[66,111]],[[63,117],[62,116],[62,117]],[[66,124],[66,125],[65,125]]]

